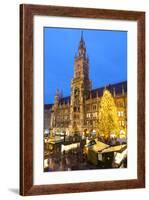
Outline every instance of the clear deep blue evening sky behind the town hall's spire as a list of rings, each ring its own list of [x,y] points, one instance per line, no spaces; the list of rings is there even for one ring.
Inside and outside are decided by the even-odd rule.
[[[44,28],[44,103],[53,103],[56,89],[70,95],[74,55],[80,29]],[[127,32],[83,30],[92,87],[127,80]]]

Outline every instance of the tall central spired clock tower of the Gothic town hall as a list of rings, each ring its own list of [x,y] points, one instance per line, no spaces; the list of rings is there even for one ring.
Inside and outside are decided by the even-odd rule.
[[[70,130],[82,134],[85,128],[85,98],[92,89],[89,80],[89,58],[81,33],[78,52],[74,58],[74,77],[71,81]]]

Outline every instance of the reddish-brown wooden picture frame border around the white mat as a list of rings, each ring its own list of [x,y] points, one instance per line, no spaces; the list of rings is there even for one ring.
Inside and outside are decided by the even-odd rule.
[[[34,185],[33,17],[59,16],[137,21],[137,179]],[[44,195],[145,187],[145,13],[92,8],[20,5],[20,194]]]

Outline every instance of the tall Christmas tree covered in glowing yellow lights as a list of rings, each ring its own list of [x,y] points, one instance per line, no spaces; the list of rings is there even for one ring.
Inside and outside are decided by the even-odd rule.
[[[103,135],[105,139],[108,139],[110,134],[114,134],[118,137],[120,128],[117,108],[111,93],[107,89],[104,90],[99,109],[99,136]]]

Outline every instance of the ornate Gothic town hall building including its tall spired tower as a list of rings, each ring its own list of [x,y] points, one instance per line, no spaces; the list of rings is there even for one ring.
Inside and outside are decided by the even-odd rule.
[[[93,89],[89,79],[89,58],[81,35],[78,53],[74,58],[74,76],[71,95],[62,97],[57,90],[53,104],[44,106],[44,128],[68,134],[98,132],[99,105],[104,89],[114,97],[122,129],[127,124],[127,82],[120,82]]]

